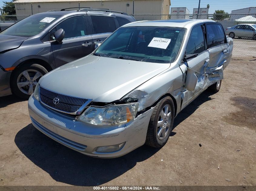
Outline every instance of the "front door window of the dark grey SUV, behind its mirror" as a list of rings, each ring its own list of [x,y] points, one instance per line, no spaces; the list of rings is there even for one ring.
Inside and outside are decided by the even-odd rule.
[[[84,16],[77,16],[66,19],[57,25],[56,30],[59,29],[63,29],[65,31],[64,39],[81,37],[87,34]]]

